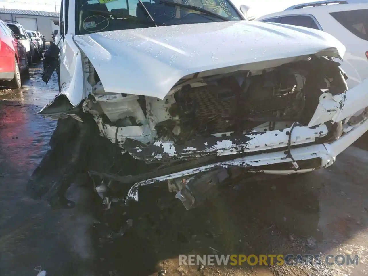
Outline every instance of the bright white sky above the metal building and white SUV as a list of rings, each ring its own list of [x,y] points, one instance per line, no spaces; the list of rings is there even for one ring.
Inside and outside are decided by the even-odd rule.
[[[250,13],[256,17],[276,13],[287,7],[308,2],[307,0],[231,0],[237,6],[245,4],[251,7]],[[56,5],[56,9],[55,9]],[[0,0],[0,8],[59,12],[60,0]]]

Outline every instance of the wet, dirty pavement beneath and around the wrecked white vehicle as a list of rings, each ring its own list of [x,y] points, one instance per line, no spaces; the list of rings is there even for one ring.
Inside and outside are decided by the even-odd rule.
[[[19,90],[0,89],[0,275],[363,275],[368,269],[368,135],[333,166],[300,176],[238,179],[185,210],[167,185],[143,188],[133,228],[113,243],[94,231],[91,188],[77,181],[74,209],[51,210],[25,192],[56,121],[35,114],[58,92],[40,65]],[[124,214],[120,214],[124,218]],[[120,219],[120,218],[119,218]],[[188,267],[179,254],[352,254],[358,266]],[[161,271],[161,272],[160,272]],[[161,274],[160,274],[161,273]],[[184,273],[184,274],[183,274]]]

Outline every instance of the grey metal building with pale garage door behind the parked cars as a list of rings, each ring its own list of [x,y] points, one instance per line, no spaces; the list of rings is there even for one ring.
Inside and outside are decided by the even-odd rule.
[[[1,20],[12,20],[22,24],[26,30],[36,30],[45,36],[46,41],[52,40],[54,29],[59,29],[59,13],[48,11],[27,11],[0,8]]]

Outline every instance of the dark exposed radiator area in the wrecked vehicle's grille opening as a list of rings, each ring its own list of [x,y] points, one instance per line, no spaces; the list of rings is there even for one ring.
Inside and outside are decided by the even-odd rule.
[[[232,75],[183,86],[169,108],[172,117],[180,118],[181,132],[170,137],[171,121],[163,122],[156,126],[158,138],[167,136],[181,143],[195,136],[242,133],[266,122],[267,130],[274,130],[277,122],[300,118],[305,105],[305,74],[283,69],[245,74],[243,78]]]

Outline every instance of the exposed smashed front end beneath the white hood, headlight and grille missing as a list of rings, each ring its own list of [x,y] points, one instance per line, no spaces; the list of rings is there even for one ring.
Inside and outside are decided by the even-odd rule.
[[[94,114],[102,136],[137,159],[147,161],[148,155],[162,159],[157,152],[145,151],[149,146],[163,148],[168,157],[176,155],[178,148],[190,153],[200,148],[193,146],[193,141],[201,141],[205,149],[212,146],[218,153],[222,147],[217,145],[228,143],[218,138],[229,137],[236,138],[230,142],[232,147],[243,146],[244,150],[252,138],[241,135],[294,128],[295,124],[307,126],[323,93],[336,95],[347,91],[339,65],[326,57],[311,56],[261,70],[202,77],[197,73],[180,79],[161,100],[105,92],[89,63],[86,79],[92,93],[83,109]],[[323,129],[306,134],[305,141],[313,142],[327,132]],[[287,141],[277,140],[277,143],[282,147]],[[273,143],[264,143],[265,147],[270,144]]]

